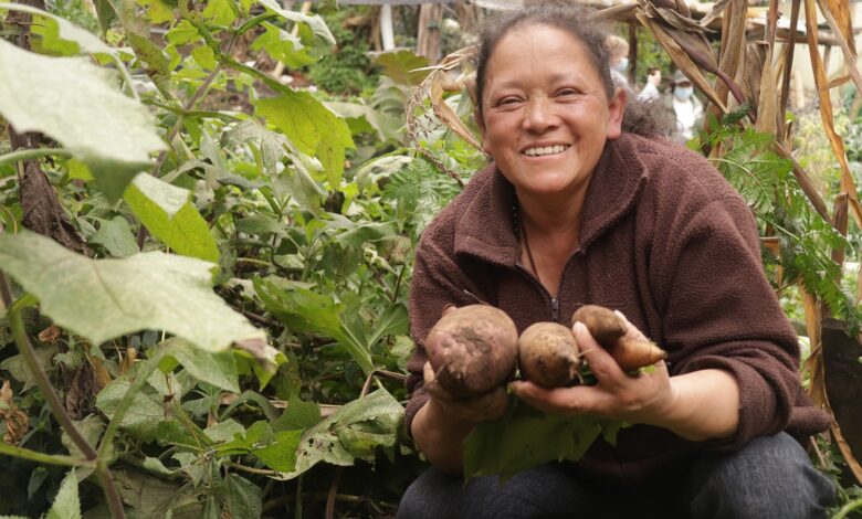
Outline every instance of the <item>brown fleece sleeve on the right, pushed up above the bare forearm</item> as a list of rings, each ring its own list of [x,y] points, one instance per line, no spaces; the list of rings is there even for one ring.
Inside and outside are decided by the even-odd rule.
[[[801,391],[796,333],[767,282],[753,214],[742,198],[719,198],[677,219],[666,247],[662,332],[672,374],[730,372],[739,384],[739,427],[714,442],[737,449],[784,431]],[[658,256],[656,256],[658,257]]]

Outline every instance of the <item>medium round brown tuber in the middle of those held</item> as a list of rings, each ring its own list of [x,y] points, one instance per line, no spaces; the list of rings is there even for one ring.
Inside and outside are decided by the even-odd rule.
[[[570,385],[578,378],[580,356],[571,330],[557,322],[536,322],[518,339],[521,375],[544,388]]]

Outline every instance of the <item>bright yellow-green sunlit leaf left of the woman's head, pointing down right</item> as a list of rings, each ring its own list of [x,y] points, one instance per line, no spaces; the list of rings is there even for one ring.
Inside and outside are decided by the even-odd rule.
[[[347,123],[308,93],[285,92],[261,99],[255,115],[282,131],[303,153],[314,155],[323,165],[329,184],[337,187],[344,173],[345,150],[355,148]]]

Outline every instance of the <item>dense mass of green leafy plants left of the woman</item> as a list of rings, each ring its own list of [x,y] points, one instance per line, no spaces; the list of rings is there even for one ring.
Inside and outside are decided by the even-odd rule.
[[[403,147],[418,57],[325,102],[245,59],[319,62],[319,15],[111,6],[104,38],[0,6],[33,17],[29,50],[0,40],[0,515],[392,513],[424,467],[402,424],[413,247],[460,190]],[[12,150],[19,126],[35,147]],[[19,182],[25,159],[55,194]],[[23,229],[55,202],[86,254]]]

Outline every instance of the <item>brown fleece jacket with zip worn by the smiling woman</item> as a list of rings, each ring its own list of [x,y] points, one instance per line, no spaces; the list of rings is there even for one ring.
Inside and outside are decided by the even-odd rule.
[[[621,310],[669,353],[671,375],[727,370],[739,383],[739,428],[719,442],[687,442],[648,425],[599,439],[576,464],[608,481],[637,483],[698,451],[737,449],[758,435],[824,431],[799,382],[797,338],[764,276],[751,211],[703,157],[624,134],[608,141],[588,187],[580,244],[558,299],[521,264],[514,189],[493,165],[425,230],[410,296],[417,350],[408,369],[408,431],[428,401],[425,336],[448,305],[477,300],[506,311],[518,331],[568,324],[581,305]]]

